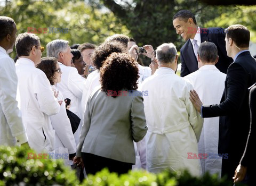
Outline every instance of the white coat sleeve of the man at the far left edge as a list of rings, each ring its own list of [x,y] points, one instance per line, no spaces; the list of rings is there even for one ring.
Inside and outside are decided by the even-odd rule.
[[[18,78],[13,60],[10,57],[2,58],[0,61],[0,106],[12,136],[17,138],[18,144],[21,144],[28,139],[16,100],[17,86]]]

